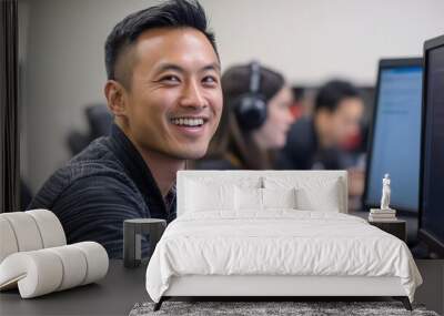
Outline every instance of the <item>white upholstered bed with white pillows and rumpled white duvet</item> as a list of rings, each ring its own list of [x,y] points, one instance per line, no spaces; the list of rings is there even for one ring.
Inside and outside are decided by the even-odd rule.
[[[344,171],[179,172],[178,218],[147,269],[155,308],[171,296],[393,296],[410,308],[422,278],[408,247],[346,201]]]

